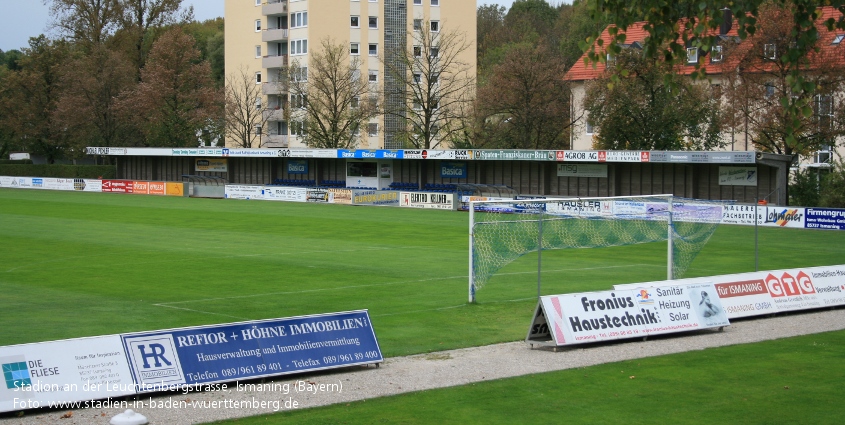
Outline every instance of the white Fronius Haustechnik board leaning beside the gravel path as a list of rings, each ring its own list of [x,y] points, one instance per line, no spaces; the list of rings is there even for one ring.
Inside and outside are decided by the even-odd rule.
[[[570,345],[728,326],[715,293],[702,283],[544,296],[526,341]]]

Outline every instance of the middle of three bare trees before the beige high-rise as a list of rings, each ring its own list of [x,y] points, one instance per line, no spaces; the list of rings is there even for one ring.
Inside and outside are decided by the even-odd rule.
[[[358,146],[361,132],[379,114],[379,92],[361,77],[357,57],[349,47],[331,39],[320,42],[304,69],[291,64],[288,81],[291,121],[302,126],[308,147],[350,149]]]

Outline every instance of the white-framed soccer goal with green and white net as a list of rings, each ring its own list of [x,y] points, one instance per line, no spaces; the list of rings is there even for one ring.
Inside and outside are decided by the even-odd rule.
[[[469,301],[502,267],[542,251],[668,241],[666,278],[681,277],[722,220],[722,201],[651,195],[472,201]]]

